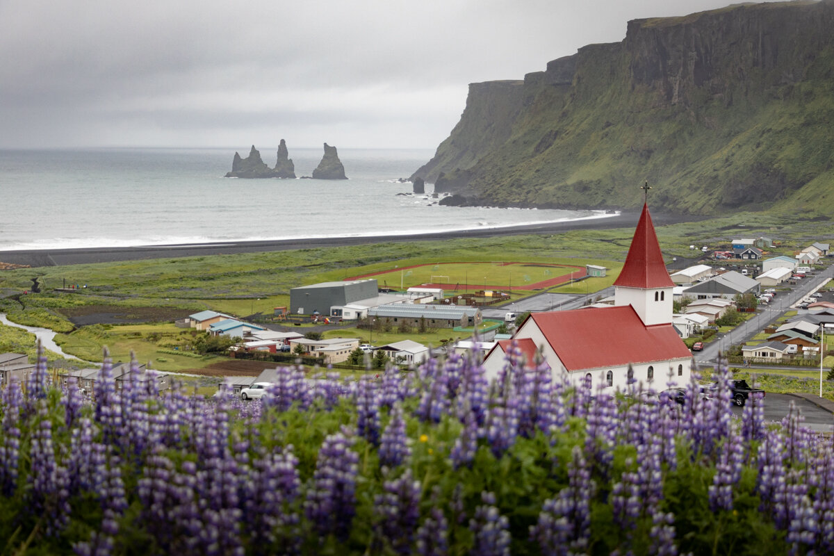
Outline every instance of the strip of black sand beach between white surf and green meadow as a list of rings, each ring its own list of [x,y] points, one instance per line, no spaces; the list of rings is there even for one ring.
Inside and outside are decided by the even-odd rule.
[[[415,233],[410,235],[374,236],[366,238],[305,238],[274,241],[193,243],[181,245],[151,245],[123,248],[75,248],[33,249],[26,251],[0,251],[0,262],[28,264],[32,267],[63,266],[68,264],[112,263],[148,258],[181,258],[203,255],[227,255],[234,253],[263,253],[302,248],[329,248],[341,245],[373,243],[431,241],[451,238],[492,238],[507,235],[549,234],[581,229],[610,229],[633,227],[639,213],[627,212],[607,218],[573,220],[568,222],[513,226],[508,228],[484,228],[443,233]],[[696,217],[695,217],[696,218]],[[656,225],[684,222],[687,219],[673,215],[652,215]]]

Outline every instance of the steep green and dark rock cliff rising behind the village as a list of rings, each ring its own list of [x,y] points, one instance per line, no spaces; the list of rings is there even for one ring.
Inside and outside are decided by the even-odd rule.
[[[834,0],[631,21],[523,82],[476,83],[415,177],[469,203],[834,208]]]

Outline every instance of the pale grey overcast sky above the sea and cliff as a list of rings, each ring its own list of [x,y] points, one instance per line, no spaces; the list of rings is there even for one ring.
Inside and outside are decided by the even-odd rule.
[[[437,147],[468,83],[729,0],[0,0],[0,148]]]

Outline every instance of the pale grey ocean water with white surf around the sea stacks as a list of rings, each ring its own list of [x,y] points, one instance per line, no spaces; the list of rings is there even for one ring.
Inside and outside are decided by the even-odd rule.
[[[269,166],[276,148],[259,148]],[[249,148],[241,149],[241,156]],[[309,176],[320,148],[290,148]],[[224,178],[234,148],[0,151],[0,250],[327,238],[498,228],[593,211],[441,207],[399,183],[429,150],[339,149],[348,180]],[[404,194],[398,194],[404,193]]]

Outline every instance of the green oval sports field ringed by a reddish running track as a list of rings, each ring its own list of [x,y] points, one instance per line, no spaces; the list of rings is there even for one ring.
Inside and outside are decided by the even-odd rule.
[[[482,289],[523,291],[551,288],[560,283],[569,282],[571,278],[584,276],[584,266],[493,261],[414,264],[345,279],[376,278],[380,286],[398,289],[425,285],[453,291]]]

